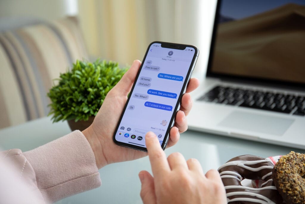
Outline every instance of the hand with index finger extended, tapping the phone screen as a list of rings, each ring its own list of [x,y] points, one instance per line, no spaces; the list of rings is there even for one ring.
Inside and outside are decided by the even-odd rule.
[[[154,177],[147,171],[139,173],[143,203],[227,203],[224,185],[217,170],[210,170],[204,175],[198,160],[185,161],[178,152],[166,159],[153,132],[146,134],[145,143]]]

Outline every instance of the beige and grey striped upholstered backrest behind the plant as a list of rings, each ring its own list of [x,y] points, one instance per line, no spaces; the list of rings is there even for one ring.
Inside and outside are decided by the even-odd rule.
[[[46,116],[53,79],[83,58],[75,17],[0,32],[0,128]]]

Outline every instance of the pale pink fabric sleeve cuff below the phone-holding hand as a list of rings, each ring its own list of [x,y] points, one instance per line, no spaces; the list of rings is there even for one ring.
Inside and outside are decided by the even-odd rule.
[[[94,153],[78,130],[23,155],[34,169],[37,186],[46,202],[101,185]]]

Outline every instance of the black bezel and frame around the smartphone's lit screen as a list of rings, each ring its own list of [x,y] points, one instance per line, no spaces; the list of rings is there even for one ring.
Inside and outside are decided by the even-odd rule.
[[[174,121],[174,119],[175,119],[175,117],[176,117],[176,112],[177,112],[177,110],[178,110],[178,107],[180,106],[180,102],[181,102],[182,95],[184,94],[184,92],[185,92],[185,90],[186,90],[188,81],[189,81],[189,79],[190,79],[190,77],[191,77],[191,74],[192,74],[192,71],[193,71],[193,69],[194,69],[194,67],[195,67],[195,65],[196,65],[196,61],[197,61],[197,58],[198,58],[198,56],[199,56],[199,50],[198,50],[198,48],[197,48],[196,46],[193,46],[193,45],[185,45],[185,44],[178,44],[178,43],[168,43],[168,42],[154,41],[154,42],[152,42],[152,43],[149,44],[149,46],[148,46],[148,48],[147,48],[147,50],[146,50],[146,52],[145,52],[144,58],[143,58],[143,60],[142,60],[143,63],[144,63],[144,61],[145,61],[145,59],[146,59],[146,56],[147,56],[147,54],[148,54],[148,52],[149,52],[150,46],[151,46],[152,44],[154,44],[154,43],[159,43],[159,44],[161,44],[161,47],[164,47],[164,48],[171,48],[171,49],[184,50],[185,47],[192,47],[192,48],[194,49],[194,56],[193,56],[192,62],[191,62],[191,64],[190,64],[190,67],[188,68],[188,73],[187,73],[187,75],[186,75],[186,77],[185,77],[186,80],[185,80],[184,83],[183,83],[183,86],[182,86],[181,92],[180,92],[180,94],[179,94],[179,97],[178,97],[176,106],[175,106],[175,108],[174,108],[174,110],[173,110],[173,115],[172,115],[172,117],[171,117],[171,119],[170,119],[170,123],[169,123],[170,125],[168,126],[168,128],[167,128],[167,130],[166,130],[166,133],[165,133],[164,139],[163,139],[163,143],[162,143],[162,145],[161,145],[162,149],[164,150],[165,147],[166,147],[166,145],[167,145],[168,138],[169,138],[170,128],[172,128],[172,124],[174,124],[173,121]],[[138,73],[137,73],[137,76],[136,76],[136,78],[135,78],[135,82],[138,80],[138,77],[139,77],[140,72],[141,72],[142,67],[143,67],[143,63],[141,64],[140,69],[139,69],[139,71],[138,71]],[[128,102],[129,102],[129,100],[130,100],[130,98],[131,98],[131,93],[133,92],[133,90],[134,90],[134,88],[135,88],[135,82],[134,82],[134,84],[132,85],[132,88],[131,88],[130,94],[129,94],[128,98],[127,98],[127,101],[126,101],[126,104],[125,104],[125,106],[124,106],[123,112],[121,113],[120,119],[119,119],[119,121],[118,121],[118,123],[117,123],[117,127],[116,127],[116,129],[115,129],[114,134],[113,134],[113,142],[116,143],[116,144],[119,145],[119,146],[122,146],[122,147],[127,147],[127,148],[131,148],[131,149],[135,149],[135,150],[140,150],[140,151],[147,152],[146,147],[140,147],[140,146],[136,146],[136,145],[132,145],[132,144],[128,144],[128,143],[123,143],[123,142],[117,141],[117,140],[115,139],[116,133],[117,133],[117,131],[118,131],[118,129],[119,129],[119,125],[120,125],[120,123],[121,123],[121,121],[122,121],[122,118],[123,118],[123,115],[124,115],[124,113],[125,113],[125,111],[126,111],[127,104],[128,104]]]

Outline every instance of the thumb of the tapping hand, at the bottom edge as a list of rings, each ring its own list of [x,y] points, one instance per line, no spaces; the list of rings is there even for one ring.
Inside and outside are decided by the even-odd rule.
[[[140,196],[144,204],[155,204],[156,194],[152,175],[147,171],[141,171],[139,178],[142,184]]]

